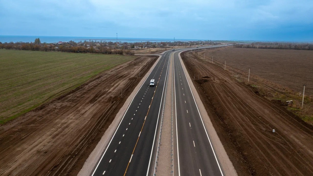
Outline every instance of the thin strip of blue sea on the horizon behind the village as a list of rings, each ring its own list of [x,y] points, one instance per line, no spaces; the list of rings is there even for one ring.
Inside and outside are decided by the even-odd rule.
[[[57,43],[57,42],[80,42],[80,41],[97,41],[100,42],[116,42],[116,38],[114,37],[64,37],[64,36],[18,36],[18,35],[0,35],[0,42],[34,42],[36,38],[39,38],[41,43]],[[118,42],[128,42],[128,43],[135,43],[135,42],[164,42],[164,41],[171,41],[173,42],[174,39],[149,39],[149,38],[117,38]],[[175,39],[175,41],[197,41],[192,39]]]

